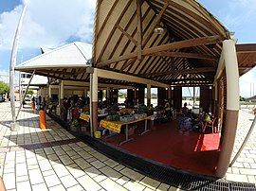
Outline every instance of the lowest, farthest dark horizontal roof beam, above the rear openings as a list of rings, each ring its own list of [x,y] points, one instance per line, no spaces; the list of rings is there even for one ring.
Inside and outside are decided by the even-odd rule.
[[[179,75],[185,75],[185,74],[201,74],[201,73],[210,73],[210,72],[215,72],[215,68],[210,68],[210,67],[204,67],[204,68],[193,68],[193,69],[185,69],[185,70],[172,70],[172,71],[167,71],[167,72],[161,72],[161,73],[149,73],[143,75],[143,77],[161,77],[161,76],[166,76],[166,75],[174,75],[174,74],[179,74]]]

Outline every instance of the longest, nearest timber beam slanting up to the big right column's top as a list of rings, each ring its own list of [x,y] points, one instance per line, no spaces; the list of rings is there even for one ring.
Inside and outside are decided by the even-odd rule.
[[[174,43],[167,43],[167,44],[162,44],[162,45],[158,45],[155,47],[143,49],[142,56],[148,56],[148,55],[155,54],[157,52],[163,52],[163,51],[168,51],[168,50],[181,49],[181,48],[186,48],[186,47],[194,47],[194,46],[206,45],[206,44],[211,44],[211,43],[219,43],[221,41],[222,41],[222,38],[220,36],[216,35],[216,36],[201,37],[201,38],[195,38],[195,39],[174,42]],[[97,66],[100,66],[100,67],[106,66],[106,65],[109,65],[114,62],[125,61],[125,60],[129,60],[129,59],[134,59],[134,58],[137,58],[137,52],[133,52],[129,55],[124,55],[119,58],[114,58],[114,59],[107,60],[107,61],[100,61],[97,63]]]

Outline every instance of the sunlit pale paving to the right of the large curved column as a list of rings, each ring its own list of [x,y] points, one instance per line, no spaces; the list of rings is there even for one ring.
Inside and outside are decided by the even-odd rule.
[[[232,156],[234,156],[241,147],[254,119],[254,115],[251,111],[249,112],[250,113],[245,111],[239,112],[238,130]],[[232,167],[229,167],[226,179],[233,182],[256,183],[256,127],[237,161]]]

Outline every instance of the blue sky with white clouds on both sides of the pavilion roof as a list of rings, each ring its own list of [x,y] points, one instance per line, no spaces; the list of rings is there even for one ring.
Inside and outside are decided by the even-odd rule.
[[[256,0],[199,0],[239,43],[256,43]],[[9,69],[9,52],[22,0],[0,0],[0,75]],[[95,0],[30,0],[21,33],[17,63],[40,54],[39,47],[92,41]],[[250,96],[256,69],[240,78],[242,96]]]

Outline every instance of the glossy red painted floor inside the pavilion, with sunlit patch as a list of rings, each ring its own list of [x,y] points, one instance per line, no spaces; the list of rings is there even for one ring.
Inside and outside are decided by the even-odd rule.
[[[155,130],[142,136],[138,135],[141,130],[137,129],[131,136],[134,140],[122,146],[119,142],[124,140],[123,134],[108,138],[107,142],[165,165],[196,174],[214,174],[219,155],[218,133],[183,132],[177,130],[175,122],[156,125]]]

